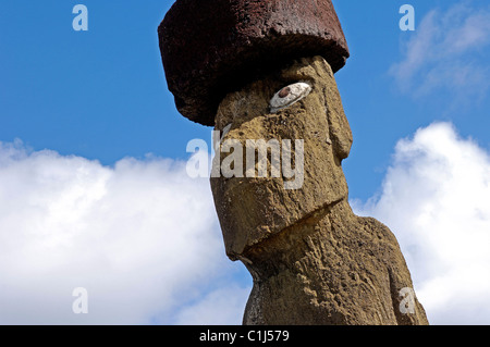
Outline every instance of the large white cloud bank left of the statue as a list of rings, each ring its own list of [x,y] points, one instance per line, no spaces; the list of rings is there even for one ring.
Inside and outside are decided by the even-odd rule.
[[[236,271],[209,182],[184,162],[109,168],[0,142],[1,324],[240,324]],[[88,314],[72,311],[76,287]]]

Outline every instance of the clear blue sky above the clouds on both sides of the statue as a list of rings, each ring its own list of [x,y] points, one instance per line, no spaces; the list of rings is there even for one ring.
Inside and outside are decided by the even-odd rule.
[[[396,140],[434,120],[453,122],[462,135],[489,148],[486,98],[451,104],[460,90],[444,88],[416,98],[389,75],[404,45],[417,35],[399,28],[405,2],[338,2],[352,53],[336,74],[355,138],[345,162],[352,196],[369,197]],[[0,139],[20,138],[35,150],[49,148],[108,165],[149,152],[185,159],[187,141],[208,139],[209,128],[180,116],[167,89],[156,27],[173,1],[85,1],[85,33],[71,26],[76,3],[2,2]],[[416,21],[453,3],[413,2]],[[467,3],[487,5],[485,0]],[[365,172],[360,179],[359,170]]]

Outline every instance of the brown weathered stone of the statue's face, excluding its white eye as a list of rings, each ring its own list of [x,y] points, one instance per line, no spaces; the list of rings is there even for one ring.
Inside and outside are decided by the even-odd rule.
[[[282,87],[301,80],[313,88],[308,97],[270,113],[271,97]],[[232,124],[224,139],[241,140],[243,146],[247,139],[304,140],[302,189],[283,189],[282,177],[212,181],[231,258],[317,209],[346,197],[341,160],[348,156],[353,139],[332,71],[324,60],[317,58],[313,65],[295,65],[230,94],[221,102],[216,122],[220,131]],[[221,153],[222,159],[226,156]]]

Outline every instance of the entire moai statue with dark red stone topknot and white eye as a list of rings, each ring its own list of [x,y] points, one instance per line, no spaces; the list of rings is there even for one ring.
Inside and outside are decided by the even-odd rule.
[[[332,2],[177,0],[159,37],[177,110],[221,132],[215,164],[243,146],[232,171],[246,173],[211,177],[226,253],[254,278],[243,323],[428,324],[396,238],[348,205]],[[268,175],[246,160],[260,151]]]

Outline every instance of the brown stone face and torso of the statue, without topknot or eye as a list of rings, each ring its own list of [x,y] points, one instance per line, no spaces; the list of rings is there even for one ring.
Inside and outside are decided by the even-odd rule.
[[[272,96],[297,82],[310,94],[271,113]],[[394,235],[348,206],[342,160],[352,134],[323,58],[301,59],[229,94],[216,116],[216,128],[225,127],[223,140],[244,146],[304,139],[299,189],[284,189],[282,176],[211,178],[226,253],[254,278],[245,324],[428,323],[416,298],[414,313],[400,309],[400,290],[413,284]]]

